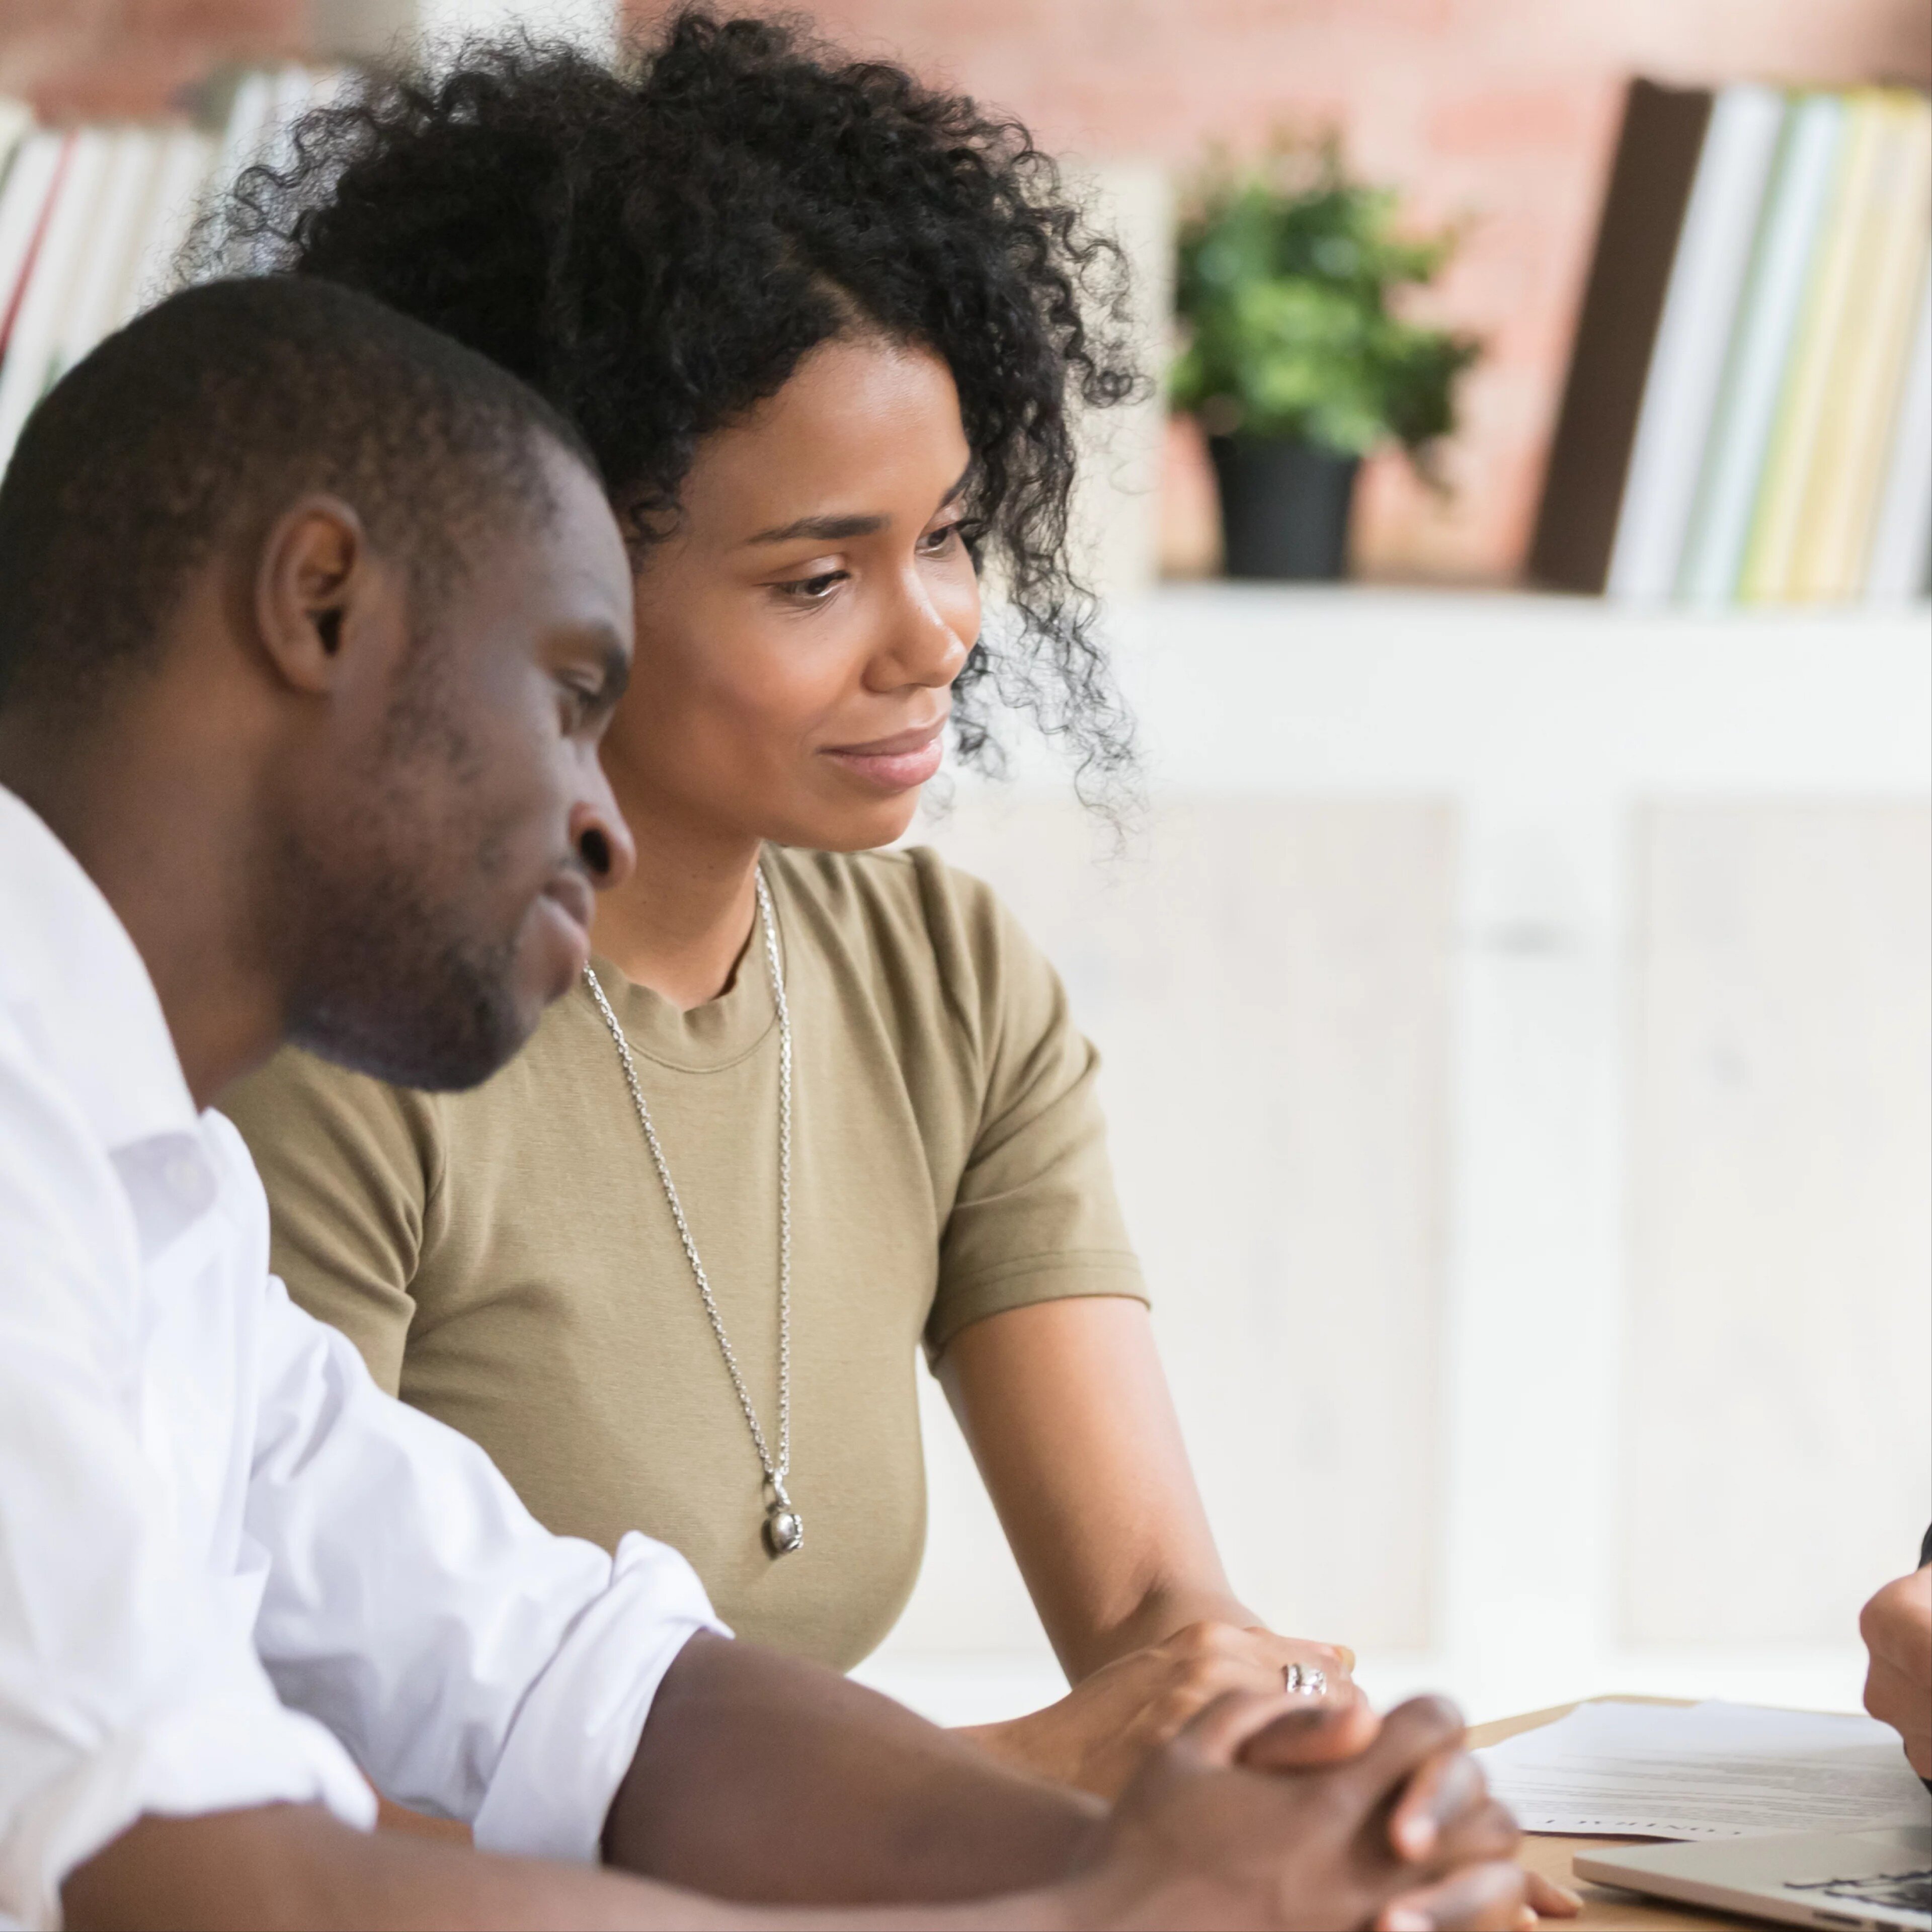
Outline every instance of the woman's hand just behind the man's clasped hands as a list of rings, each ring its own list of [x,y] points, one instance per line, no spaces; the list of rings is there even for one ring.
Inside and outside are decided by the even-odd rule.
[[[1150,1750],[1229,1690],[1269,1696],[1291,1663],[1318,1669],[1331,1690],[1352,1685],[1354,1652],[1233,1623],[1190,1623],[1101,1665],[1045,1710],[966,1729],[1005,1764],[1113,1799]]]

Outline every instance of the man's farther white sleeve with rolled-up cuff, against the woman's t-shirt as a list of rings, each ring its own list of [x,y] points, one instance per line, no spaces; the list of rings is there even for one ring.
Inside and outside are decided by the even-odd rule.
[[[245,1163],[234,1128],[211,1124]],[[696,1631],[728,1634],[692,1567],[638,1534],[614,1557],[553,1536],[473,1441],[377,1389],[280,1281],[257,1414],[255,1636],[282,1698],[479,1845],[595,1859],[665,1671]]]

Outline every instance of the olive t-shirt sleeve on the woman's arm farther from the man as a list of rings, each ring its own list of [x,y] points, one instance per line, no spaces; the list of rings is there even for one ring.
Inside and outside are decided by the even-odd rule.
[[[980,1082],[927,1352],[1009,1308],[1078,1294],[1144,1302],[1095,1095],[1099,1053],[1074,1026],[1059,974],[985,885],[929,852],[914,858]]]

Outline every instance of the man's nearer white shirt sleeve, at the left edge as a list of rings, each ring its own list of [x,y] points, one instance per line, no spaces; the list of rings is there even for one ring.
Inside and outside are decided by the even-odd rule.
[[[184,1555],[147,1453],[137,1233],[106,1155],[0,1024],[0,1922],[143,1812],[375,1799],[286,1710],[247,1578]]]

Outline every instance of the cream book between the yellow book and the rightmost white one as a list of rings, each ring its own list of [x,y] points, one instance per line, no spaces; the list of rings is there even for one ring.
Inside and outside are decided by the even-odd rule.
[[[1851,243],[1845,321],[1793,539],[1787,595],[1845,603],[1864,582],[1886,431],[1899,402],[1926,251],[1932,245],[1932,102],[1889,95],[1859,236]]]

